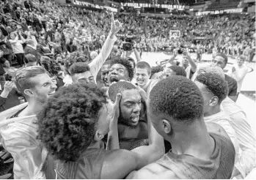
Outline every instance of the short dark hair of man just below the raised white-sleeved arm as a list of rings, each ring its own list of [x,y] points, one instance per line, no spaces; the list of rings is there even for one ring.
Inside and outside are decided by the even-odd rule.
[[[70,69],[70,66],[72,64],[74,64],[75,62],[85,62],[88,64],[89,57],[82,53],[78,53],[77,51],[70,53],[65,59],[65,68],[66,68],[67,72]]]

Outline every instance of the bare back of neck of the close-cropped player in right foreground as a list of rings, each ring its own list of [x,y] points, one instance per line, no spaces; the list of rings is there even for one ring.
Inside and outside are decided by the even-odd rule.
[[[169,142],[172,144],[172,152],[175,154],[189,154],[201,159],[208,158],[214,149],[214,140],[208,134],[203,120],[189,125],[183,132],[175,132]],[[208,147],[205,149],[205,147]]]

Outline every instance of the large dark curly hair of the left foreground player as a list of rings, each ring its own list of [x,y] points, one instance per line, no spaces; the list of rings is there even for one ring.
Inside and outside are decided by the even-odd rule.
[[[37,115],[38,138],[57,160],[76,161],[92,143],[104,103],[106,96],[95,85],[62,87]]]

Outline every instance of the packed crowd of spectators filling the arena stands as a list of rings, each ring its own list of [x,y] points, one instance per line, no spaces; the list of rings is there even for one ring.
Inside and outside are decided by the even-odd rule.
[[[90,59],[99,50],[109,31],[107,12],[58,6],[53,1],[1,1],[1,51],[10,64],[23,64],[23,55],[61,56],[79,51]],[[255,51],[255,16],[209,15],[203,17],[144,18],[140,15],[116,15],[123,22],[120,34],[136,37],[143,51],[166,50],[186,45],[203,52],[245,55],[252,61]],[[169,31],[180,31],[170,38]],[[122,40],[117,41],[117,46]],[[138,43],[139,42],[139,43]],[[251,56],[250,56],[251,55]],[[3,61],[4,62],[4,61]]]

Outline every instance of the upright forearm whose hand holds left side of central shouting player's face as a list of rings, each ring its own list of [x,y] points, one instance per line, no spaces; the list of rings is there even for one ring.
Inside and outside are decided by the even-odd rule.
[[[107,150],[120,149],[119,136],[117,130],[117,118],[112,119],[109,126],[108,141],[106,143]]]

